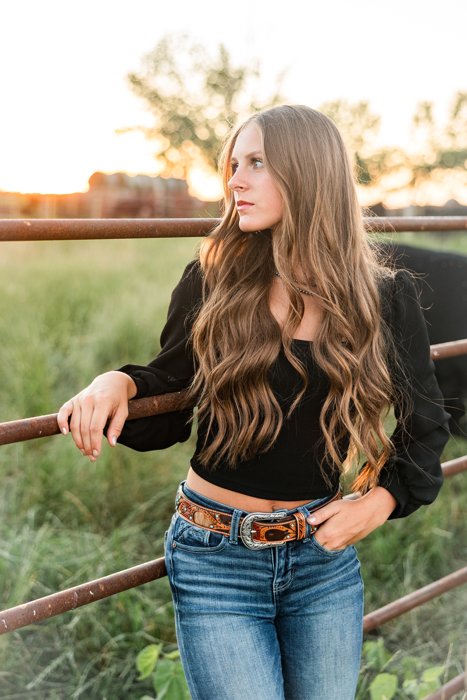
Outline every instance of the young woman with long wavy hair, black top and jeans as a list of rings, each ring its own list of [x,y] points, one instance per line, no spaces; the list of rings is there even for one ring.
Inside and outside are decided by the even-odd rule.
[[[417,294],[368,246],[349,155],[318,111],[251,117],[225,146],[225,216],[174,290],[147,367],[97,377],[59,414],[91,461],[190,435],[191,410],[127,400],[190,388],[198,440],[166,538],[194,700],[352,700],[363,584],[353,545],[431,503],[442,408]],[[391,440],[383,421],[393,405]],[[340,475],[360,456],[358,500]]]

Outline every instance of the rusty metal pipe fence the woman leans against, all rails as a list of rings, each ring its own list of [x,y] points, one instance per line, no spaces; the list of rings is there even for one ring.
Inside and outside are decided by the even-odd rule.
[[[219,219],[20,219],[0,220],[1,241],[56,241],[83,239],[129,239],[129,238],[200,238],[218,224]],[[413,216],[365,219],[366,228],[372,232],[406,231],[459,231],[467,230],[466,216]],[[431,346],[431,359],[467,354],[467,339],[454,340]],[[179,391],[160,396],[130,400],[128,420],[169,413],[187,407],[186,392]],[[60,434],[57,414],[37,416],[20,421],[0,423],[0,445],[39,437]],[[442,464],[445,477],[467,471],[467,455]],[[116,593],[141,586],[167,575],[164,557],[142,563],[139,566],[118,571],[95,581],[69,588],[65,591],[39,598],[39,600],[17,605],[0,612],[0,634],[20,629],[28,624],[76,610],[108,598]],[[363,617],[363,631],[388,622],[404,612],[433,600],[467,582],[467,566],[454,571],[428,586],[413,591],[403,598],[384,605]],[[461,673],[449,680],[437,691],[423,700],[448,700],[464,689],[466,674]],[[466,688],[467,689],[467,688]]]

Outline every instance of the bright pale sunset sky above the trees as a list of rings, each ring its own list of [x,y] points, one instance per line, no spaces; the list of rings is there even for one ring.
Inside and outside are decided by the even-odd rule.
[[[126,76],[165,34],[188,33],[312,107],[345,97],[382,116],[380,144],[410,148],[429,100],[442,121],[467,90],[465,0],[0,0],[0,190],[85,191],[90,175],[155,172],[151,125]]]

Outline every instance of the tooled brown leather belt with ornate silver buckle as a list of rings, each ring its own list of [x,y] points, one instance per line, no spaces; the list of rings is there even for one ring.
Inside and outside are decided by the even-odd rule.
[[[339,489],[326,503],[316,506],[309,512],[318,510],[332,503],[333,500],[342,498],[342,491]],[[187,498],[180,488],[176,497],[176,512],[186,521],[195,523],[197,527],[204,530],[216,532],[220,535],[230,535],[232,515],[224,513],[222,510],[214,510],[204,505],[193,503]],[[265,523],[265,520],[274,520],[273,523]],[[316,532],[318,526],[311,525],[311,531]],[[276,511],[274,513],[249,513],[239,520],[239,538],[246,547],[250,549],[263,549],[264,547],[277,547],[286,545],[287,542],[302,540],[307,532],[307,521],[305,515],[297,511],[292,515],[286,512]]]

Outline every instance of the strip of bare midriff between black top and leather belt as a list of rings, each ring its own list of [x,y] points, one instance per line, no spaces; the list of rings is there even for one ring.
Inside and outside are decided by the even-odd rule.
[[[200,493],[201,496],[216,500],[217,503],[223,503],[231,508],[238,508],[247,513],[262,512],[272,513],[274,510],[293,510],[300,505],[306,505],[308,500],[269,500],[268,498],[254,498],[253,496],[245,496],[244,493],[237,491],[229,491],[221,486],[215,486],[203,479],[190,467],[188,476],[186,477],[186,485],[188,489]]]

